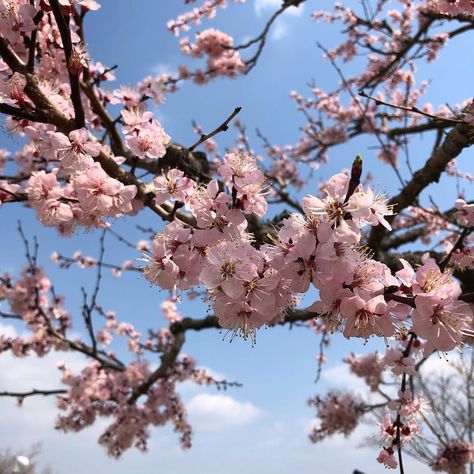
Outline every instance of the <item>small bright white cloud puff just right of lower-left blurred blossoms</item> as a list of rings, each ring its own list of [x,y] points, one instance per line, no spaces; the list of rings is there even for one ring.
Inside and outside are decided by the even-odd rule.
[[[245,425],[263,412],[250,402],[239,402],[229,395],[200,393],[187,404],[191,422],[198,429],[219,431],[226,426]]]

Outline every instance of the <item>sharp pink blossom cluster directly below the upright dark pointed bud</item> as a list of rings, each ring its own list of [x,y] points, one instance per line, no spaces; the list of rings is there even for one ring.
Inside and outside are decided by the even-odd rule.
[[[305,215],[285,220],[268,252],[276,268],[285,268],[293,291],[306,292],[310,283],[320,291],[321,300],[310,309],[324,315],[327,330],[343,325],[346,337],[391,336],[393,306],[383,294],[398,282],[357,247],[361,227],[388,225],[384,216],[391,210],[370,188],[358,185],[348,195],[349,181],[335,175],[324,184],[323,197],[304,198]]]

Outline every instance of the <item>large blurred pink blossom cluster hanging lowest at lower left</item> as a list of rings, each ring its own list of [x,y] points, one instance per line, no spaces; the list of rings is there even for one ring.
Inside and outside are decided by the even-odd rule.
[[[99,443],[109,455],[119,457],[131,446],[146,451],[150,427],[170,422],[179,433],[182,446],[191,446],[191,426],[176,392],[177,383],[194,379],[194,362],[188,357],[178,360],[169,376],[155,383],[140,405],[130,405],[128,401],[150,376],[147,362],[132,362],[122,370],[105,370],[93,362],[78,375],[64,365],[60,370],[68,391],[58,397],[58,408],[65,412],[58,417],[58,429],[81,431],[98,416],[112,417],[114,421],[102,433]]]

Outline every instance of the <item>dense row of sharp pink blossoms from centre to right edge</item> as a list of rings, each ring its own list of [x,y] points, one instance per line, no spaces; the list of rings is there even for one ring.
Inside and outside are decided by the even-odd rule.
[[[157,202],[179,201],[197,228],[174,221],[155,237],[144,269],[151,282],[167,290],[203,285],[220,324],[244,337],[278,320],[311,284],[320,301],[310,310],[324,316],[328,331],[342,327],[346,337],[393,336],[411,317],[429,354],[453,349],[470,330],[472,310],[458,301],[459,283],[433,259],[417,271],[402,260],[394,276],[359,246],[362,227],[390,227],[391,210],[370,187],[357,185],[348,195],[349,176],[333,176],[321,197],[303,199],[304,215],[284,219],[274,243],[257,249],[245,215],[265,213],[262,172],[251,156],[234,153],[218,172],[228,193],[215,180],[199,188],[179,170],[155,178]],[[460,222],[471,225],[472,206],[462,200],[457,206]]]

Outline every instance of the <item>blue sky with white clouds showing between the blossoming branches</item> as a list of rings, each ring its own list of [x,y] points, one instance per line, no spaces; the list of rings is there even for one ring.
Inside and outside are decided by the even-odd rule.
[[[173,71],[183,62],[178,41],[166,30],[165,23],[185,11],[183,2],[177,0],[104,0],[102,9],[88,15],[86,30],[92,57],[105,65],[118,64],[116,71],[119,84],[136,83],[148,74]],[[223,29],[240,43],[254,36],[262,28],[265,19],[276,9],[274,0],[247,0],[244,5],[231,4],[227,10],[219,11],[216,20],[202,24]],[[314,80],[326,90],[337,86],[338,77],[331,65],[321,60],[316,41],[331,47],[340,38],[337,25],[315,25],[309,18],[316,9],[330,8],[331,2],[308,0],[299,12],[285,15],[278,20],[257,67],[246,77],[238,80],[217,80],[205,87],[184,84],[177,94],[168,96],[166,102],[156,110],[159,120],[173,140],[190,145],[195,141],[191,127],[194,119],[204,127],[213,129],[237,105],[243,110],[239,115],[248,127],[251,145],[262,151],[254,130],[260,130],[279,144],[294,144],[299,136],[298,127],[304,118],[289,98],[291,90],[305,95],[307,84]],[[449,102],[455,104],[469,97],[474,73],[472,58],[465,56],[467,46],[472,43],[472,33],[458,38],[439,62],[420,67],[420,75],[431,79],[427,97],[435,105]],[[357,65],[345,69],[350,75]],[[231,144],[235,132],[230,130],[218,137],[221,145]],[[0,137],[0,146],[11,146],[7,137]],[[378,189],[396,193],[397,184],[393,172],[381,165],[370,149],[374,141],[360,138],[348,145],[331,151],[331,162],[316,173],[316,178],[328,178],[334,172],[349,167],[353,157],[360,153],[365,158],[365,169],[374,175]],[[415,164],[421,164],[431,150],[431,138],[413,145]],[[15,145],[13,145],[14,147]],[[466,151],[460,160],[461,169],[468,169],[472,151]],[[416,166],[415,166],[416,167]],[[452,205],[455,192],[454,181],[442,180],[433,188],[433,195],[441,207]],[[315,189],[317,182],[309,183],[308,191]],[[470,196],[467,196],[470,197]],[[472,197],[472,196],[471,196]],[[31,210],[20,206],[3,206],[0,209],[0,272],[20,271],[23,249],[16,232],[20,219],[25,233],[36,235],[40,243],[40,262],[56,287],[57,293],[66,295],[67,306],[72,314],[79,313],[80,287],[92,289],[94,274],[90,270],[72,268],[60,270],[49,262],[49,256],[57,250],[71,255],[82,250],[85,255],[97,256],[98,234],[80,231],[73,238],[61,238],[52,229],[42,228]],[[135,224],[152,226],[161,224],[156,217],[145,211],[138,218],[122,219],[113,228],[136,241],[142,235]],[[137,253],[107,235],[106,261],[121,263],[137,258]],[[163,324],[159,304],[166,296],[135,273],[121,279],[112,276],[104,280],[100,303],[105,309],[117,311],[118,318],[130,320],[136,327],[157,328]],[[185,302],[183,313],[193,317],[205,314],[205,306],[196,301]],[[5,324],[0,330],[18,331]],[[77,331],[81,331],[80,322]],[[374,457],[374,449],[358,449],[364,436],[376,432],[375,427],[363,426],[355,439],[347,442],[335,437],[314,446],[307,440],[307,432],[313,412],[306,400],[316,392],[330,386],[357,387],[340,360],[347,353],[362,353],[378,348],[382,344],[353,339],[350,342],[340,336],[333,338],[329,351],[329,362],[321,382],[315,386],[315,357],[318,339],[304,329],[276,328],[262,330],[257,344],[229,339],[215,331],[190,334],[185,352],[195,357],[201,366],[209,367],[216,374],[229,380],[243,383],[239,389],[226,393],[190,387],[182,388],[188,403],[191,421],[195,427],[194,447],[183,453],[177,437],[169,429],[155,430],[146,455],[130,451],[123,459],[108,458],[96,440],[100,434],[99,423],[80,434],[62,434],[53,429],[54,401],[28,400],[21,410],[15,408],[13,400],[0,400],[0,438],[2,445],[13,449],[24,449],[30,443],[43,442],[42,460],[49,463],[60,474],[83,474],[92,472],[113,473],[349,473],[354,468],[364,472],[383,472]],[[48,356],[43,360],[26,359],[12,362],[9,356],[0,357],[0,390],[29,389],[31,387],[54,388],[57,386],[55,361],[65,359],[79,368],[80,356]],[[50,375],[48,375],[50,374]],[[341,452],[344,455],[341,455]],[[411,461],[408,461],[409,465]],[[415,465],[412,465],[415,469]],[[414,471],[408,471],[414,472]],[[428,472],[416,466],[417,473]]]

